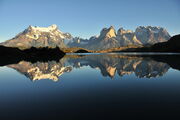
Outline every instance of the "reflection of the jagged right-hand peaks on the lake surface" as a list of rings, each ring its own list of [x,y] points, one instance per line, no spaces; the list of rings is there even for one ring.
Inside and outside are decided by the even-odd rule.
[[[170,68],[169,65],[162,62],[156,62],[149,58],[132,57],[122,55],[96,55],[85,56],[83,58],[69,59],[73,67],[79,68],[90,66],[99,69],[103,76],[114,77],[129,75],[135,73],[139,78],[157,77],[165,74]]]

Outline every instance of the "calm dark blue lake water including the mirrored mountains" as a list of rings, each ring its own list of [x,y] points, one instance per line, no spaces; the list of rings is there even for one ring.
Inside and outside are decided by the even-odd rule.
[[[0,67],[0,96],[0,119],[177,118],[180,72],[171,61],[125,54],[19,61]]]

